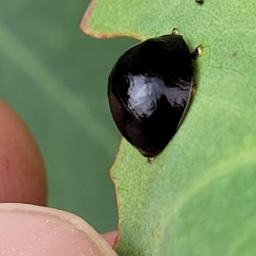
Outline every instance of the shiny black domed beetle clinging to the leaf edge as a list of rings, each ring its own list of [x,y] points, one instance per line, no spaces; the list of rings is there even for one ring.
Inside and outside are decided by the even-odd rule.
[[[152,160],[181,124],[193,90],[192,53],[183,37],[149,38],[128,49],[108,78],[113,120],[125,139]]]

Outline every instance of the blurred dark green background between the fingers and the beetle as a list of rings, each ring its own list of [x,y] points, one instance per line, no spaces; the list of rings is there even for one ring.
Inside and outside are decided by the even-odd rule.
[[[0,95],[41,148],[49,206],[105,232],[117,223],[109,168],[120,138],[108,110],[107,79],[136,40],[85,36],[79,23],[89,3],[0,2]]]

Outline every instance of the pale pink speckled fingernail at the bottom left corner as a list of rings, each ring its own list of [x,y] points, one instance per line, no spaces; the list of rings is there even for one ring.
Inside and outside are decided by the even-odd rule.
[[[96,230],[70,212],[2,203],[0,221],[6,255],[117,255]]]

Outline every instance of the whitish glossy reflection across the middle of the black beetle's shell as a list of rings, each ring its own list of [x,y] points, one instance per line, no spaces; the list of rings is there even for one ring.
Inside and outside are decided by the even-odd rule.
[[[178,87],[167,87],[162,79],[145,75],[129,76],[128,108],[138,118],[148,118],[157,108],[160,97],[165,96],[175,108],[185,108],[188,98],[184,99],[181,90],[190,90],[184,81]]]

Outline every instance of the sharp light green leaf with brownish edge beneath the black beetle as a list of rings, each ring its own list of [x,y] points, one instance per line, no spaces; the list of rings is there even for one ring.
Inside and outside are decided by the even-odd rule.
[[[180,34],[194,49],[189,113],[150,165],[125,141],[112,169],[119,255],[256,251],[256,2],[96,0],[81,24],[97,38]]]

